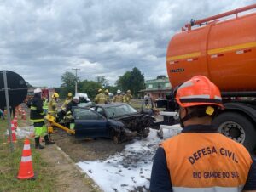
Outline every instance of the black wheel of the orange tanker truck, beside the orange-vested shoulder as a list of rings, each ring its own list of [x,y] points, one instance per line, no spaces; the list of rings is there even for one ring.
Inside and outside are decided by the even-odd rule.
[[[256,145],[256,130],[247,117],[234,112],[224,112],[217,116],[212,124],[218,127],[219,133],[243,144],[252,152]]]

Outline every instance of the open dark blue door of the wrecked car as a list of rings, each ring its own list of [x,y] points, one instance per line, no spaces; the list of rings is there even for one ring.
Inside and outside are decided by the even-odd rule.
[[[107,119],[89,108],[73,108],[76,138],[109,137]]]

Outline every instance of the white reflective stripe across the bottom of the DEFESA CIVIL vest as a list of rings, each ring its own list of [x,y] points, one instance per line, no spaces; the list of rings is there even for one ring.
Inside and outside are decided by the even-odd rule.
[[[241,192],[243,186],[238,187],[212,187],[212,188],[184,188],[172,187],[173,192]]]

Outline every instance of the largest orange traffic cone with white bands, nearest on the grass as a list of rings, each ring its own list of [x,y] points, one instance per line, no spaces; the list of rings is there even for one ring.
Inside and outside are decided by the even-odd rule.
[[[24,148],[22,151],[21,161],[20,161],[20,170],[17,178],[19,179],[34,179],[35,174],[32,167],[32,155],[30,150],[29,139],[25,138]]]

